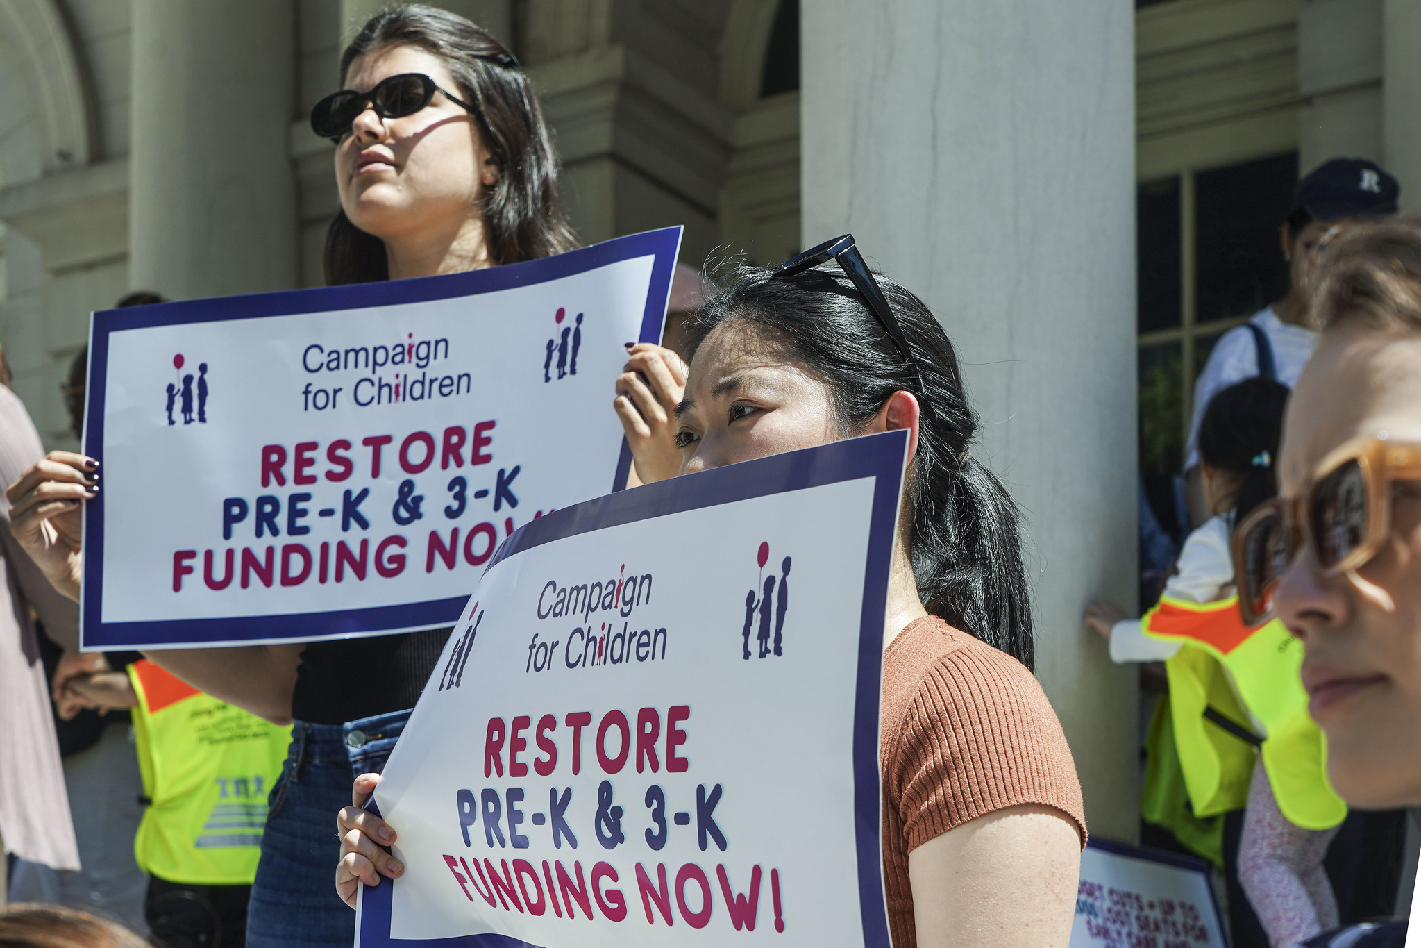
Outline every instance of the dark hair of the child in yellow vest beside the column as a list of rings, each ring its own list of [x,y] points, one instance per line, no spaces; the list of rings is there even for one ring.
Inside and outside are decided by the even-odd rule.
[[[1277,493],[1273,469],[1286,406],[1286,385],[1255,377],[1219,391],[1204,409],[1199,458],[1243,478],[1233,495],[1233,523]]]

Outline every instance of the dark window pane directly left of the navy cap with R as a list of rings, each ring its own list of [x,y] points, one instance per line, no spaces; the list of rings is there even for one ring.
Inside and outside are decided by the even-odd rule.
[[[1296,152],[1196,175],[1195,321],[1249,316],[1287,291],[1279,227],[1296,181]]]

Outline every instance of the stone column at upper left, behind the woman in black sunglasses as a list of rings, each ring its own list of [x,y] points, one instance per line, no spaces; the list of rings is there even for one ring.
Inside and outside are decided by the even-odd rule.
[[[132,28],[129,284],[296,286],[293,4],[134,0]]]

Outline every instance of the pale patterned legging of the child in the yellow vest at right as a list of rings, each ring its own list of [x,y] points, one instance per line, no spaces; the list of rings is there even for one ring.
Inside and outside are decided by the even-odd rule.
[[[1323,871],[1334,836],[1336,826],[1304,830],[1289,823],[1263,762],[1253,766],[1239,839],[1239,883],[1273,948],[1293,948],[1337,925],[1337,900]]]

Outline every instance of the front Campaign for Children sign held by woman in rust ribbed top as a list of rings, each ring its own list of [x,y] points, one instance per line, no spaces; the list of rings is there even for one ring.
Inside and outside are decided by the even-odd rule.
[[[377,789],[405,871],[362,888],[358,944],[887,948],[905,448],[762,458],[514,533]]]

